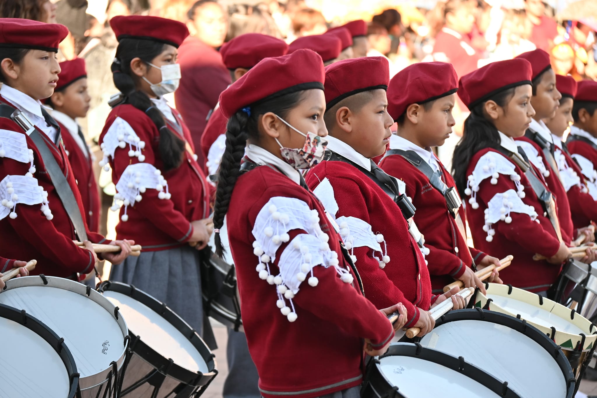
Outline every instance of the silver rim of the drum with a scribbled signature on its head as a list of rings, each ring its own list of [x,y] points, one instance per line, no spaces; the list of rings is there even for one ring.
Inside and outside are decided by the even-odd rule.
[[[44,283],[44,281],[47,281],[47,284]],[[112,319],[114,319],[118,323],[118,326],[122,331],[122,339],[124,340],[124,347],[123,347],[122,353],[120,353],[118,359],[115,360],[116,368],[118,369],[118,371],[120,371],[120,369],[122,368],[122,364],[124,363],[124,359],[127,354],[127,348],[128,348],[128,344],[129,344],[128,339],[126,338],[126,336],[128,334],[128,326],[127,326],[126,321],[124,320],[124,317],[120,314],[120,311],[118,311],[118,314],[120,314],[120,315],[118,317],[115,316],[116,306],[114,306],[110,300],[108,300],[106,297],[104,297],[103,295],[96,292],[94,289],[91,289],[90,287],[83,285],[82,283],[76,282],[75,280],[66,279],[66,278],[62,278],[62,277],[58,277],[58,276],[45,276],[43,274],[36,275],[36,276],[23,276],[23,277],[18,277],[18,278],[13,278],[11,280],[8,280],[6,282],[6,286],[3,291],[8,291],[11,289],[17,289],[17,288],[22,288],[22,287],[27,287],[27,286],[41,286],[44,288],[55,288],[55,289],[67,290],[69,292],[73,292],[75,294],[82,295],[83,297],[87,297],[90,300],[94,301],[94,303],[96,303],[99,306],[101,306],[102,308],[104,308],[104,310],[106,310],[107,313],[110,314]],[[72,287],[73,289],[70,289],[69,287]],[[0,294],[2,294],[3,291],[0,291]],[[89,295],[87,295],[87,292],[89,292]],[[112,366],[109,366],[109,368],[106,368],[103,371],[97,372],[96,374],[87,375],[85,377],[79,377],[80,389],[88,390],[90,388],[94,388],[94,387],[97,387],[98,385],[104,384],[105,382],[107,382],[109,380],[109,376],[111,375],[111,372],[112,372]]]

